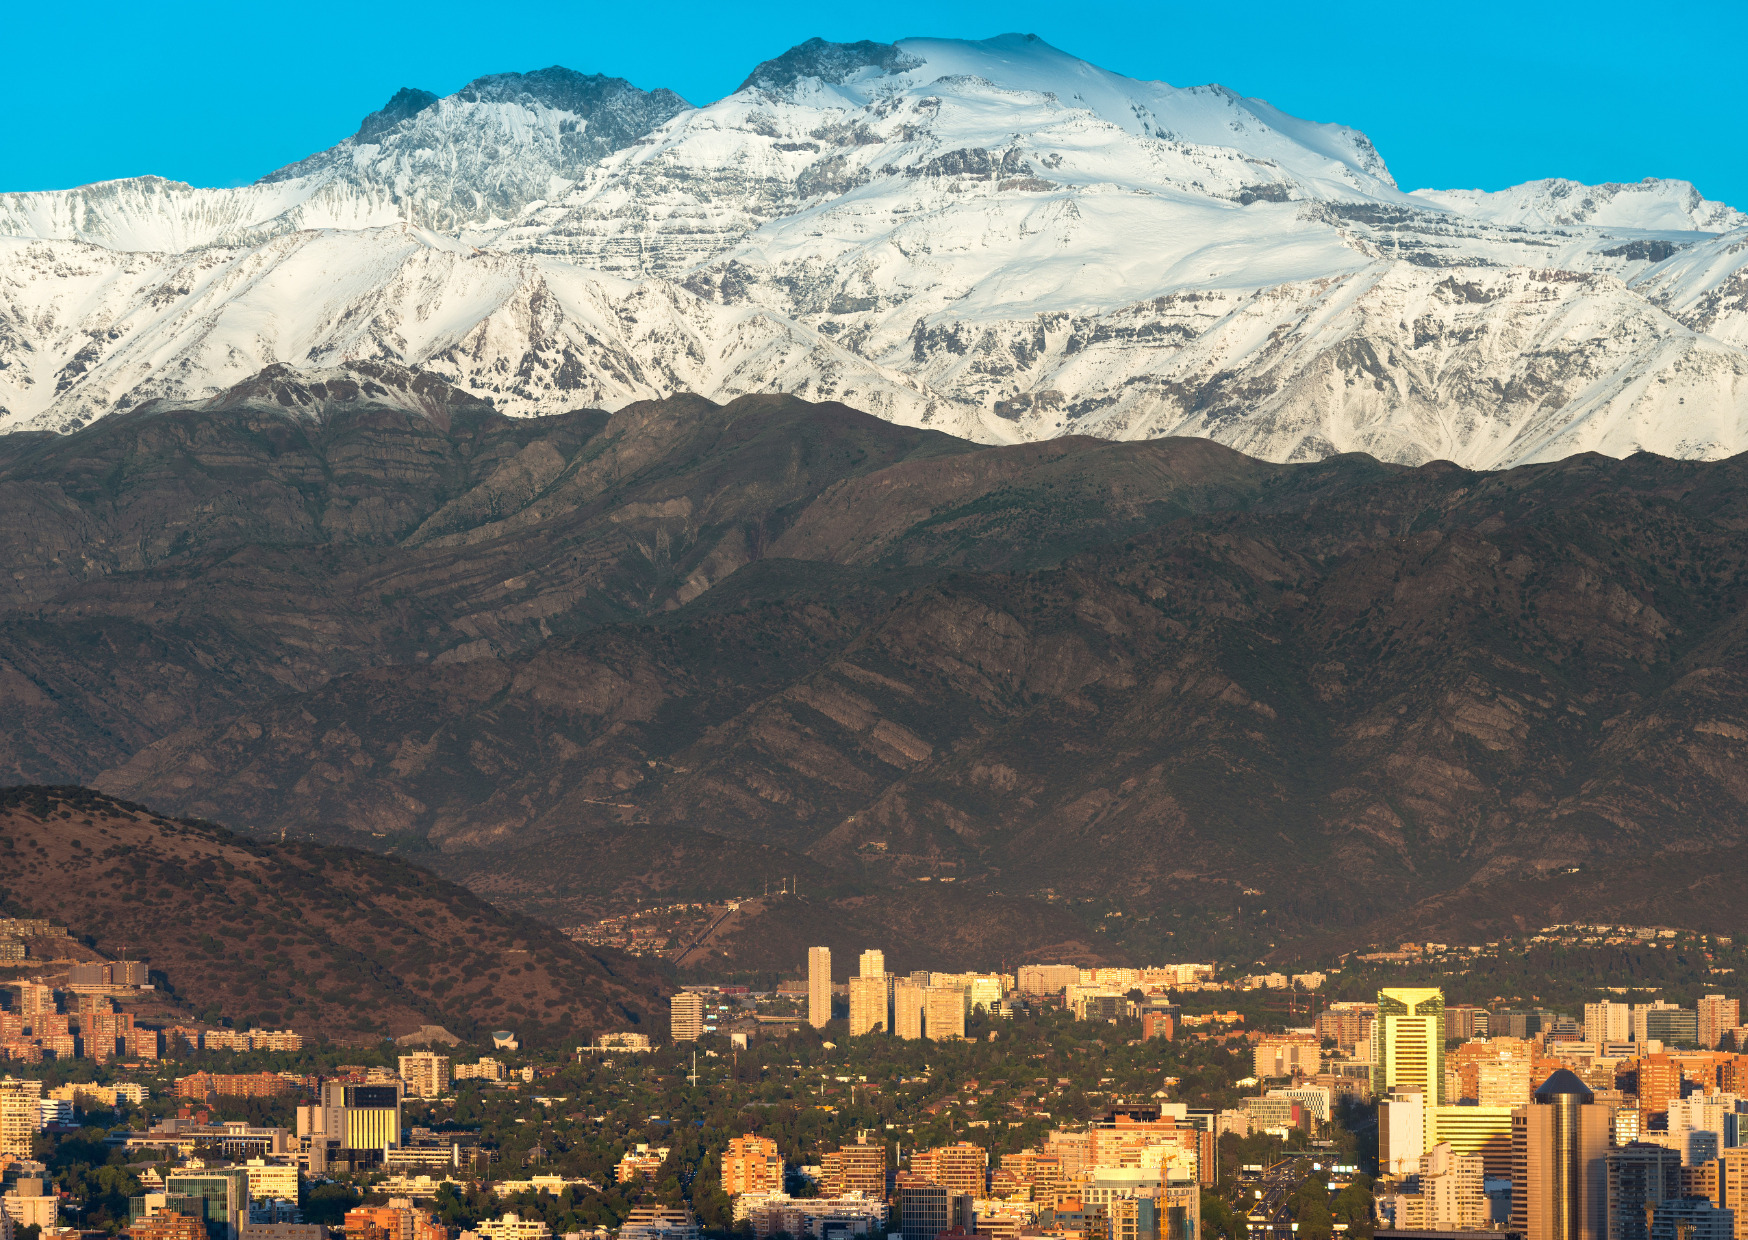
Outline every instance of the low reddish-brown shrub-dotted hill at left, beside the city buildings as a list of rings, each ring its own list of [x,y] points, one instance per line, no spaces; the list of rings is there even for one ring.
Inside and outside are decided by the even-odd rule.
[[[189,1016],[556,1042],[649,1027],[657,979],[406,860],[264,843],[86,789],[0,791],[5,911],[147,960]]]

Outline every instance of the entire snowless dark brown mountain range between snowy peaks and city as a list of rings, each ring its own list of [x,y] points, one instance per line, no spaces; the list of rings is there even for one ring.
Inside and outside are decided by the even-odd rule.
[[[1741,458],[1276,465],[430,383],[0,441],[12,778],[435,848],[565,918],[778,874],[1229,943],[1738,908],[1633,866],[1748,846]]]

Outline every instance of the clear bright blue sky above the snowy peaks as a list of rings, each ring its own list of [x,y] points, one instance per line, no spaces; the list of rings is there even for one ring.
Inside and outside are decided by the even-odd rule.
[[[1369,133],[1404,189],[1682,177],[1748,210],[1748,3],[19,5],[0,189],[245,184],[400,86],[566,65],[692,103],[808,37],[1010,30],[1131,77],[1222,82]]]

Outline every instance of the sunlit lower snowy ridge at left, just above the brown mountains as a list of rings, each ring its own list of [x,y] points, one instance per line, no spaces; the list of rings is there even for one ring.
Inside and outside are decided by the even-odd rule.
[[[355,359],[418,364],[512,413],[773,387],[898,421],[923,420],[930,404],[916,380],[757,308],[486,254],[406,224],[164,257],[0,241],[0,264],[61,276],[37,282],[47,296],[10,310],[79,322],[54,352],[17,355],[0,373],[0,401],[77,376],[54,404],[72,423],[201,397],[283,362]],[[89,304],[114,313],[77,318]]]

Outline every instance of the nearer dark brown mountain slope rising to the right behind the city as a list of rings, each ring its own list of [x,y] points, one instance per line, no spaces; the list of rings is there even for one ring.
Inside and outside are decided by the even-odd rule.
[[[1743,474],[1432,465],[1037,572],[795,567],[746,605],[341,679],[107,778],[257,826],[385,806],[505,899],[503,843],[542,857],[519,866],[535,885],[647,824],[862,885],[1185,918],[1173,934],[1370,936],[1451,894],[1745,839]]]

